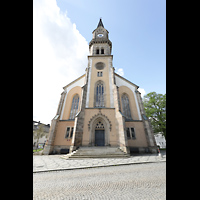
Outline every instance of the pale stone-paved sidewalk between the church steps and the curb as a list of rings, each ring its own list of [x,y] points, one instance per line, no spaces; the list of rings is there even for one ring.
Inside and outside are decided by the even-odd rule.
[[[107,167],[118,165],[130,165],[152,162],[166,162],[166,153],[158,154],[138,154],[130,158],[86,158],[86,159],[63,159],[63,155],[35,155],[33,156],[33,173],[84,169],[93,167]]]

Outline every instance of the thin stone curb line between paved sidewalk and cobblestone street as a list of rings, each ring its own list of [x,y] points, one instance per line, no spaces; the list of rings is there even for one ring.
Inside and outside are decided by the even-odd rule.
[[[99,167],[113,167],[113,166],[120,166],[120,165],[133,165],[133,164],[148,164],[148,163],[161,163],[166,162],[165,160],[159,160],[159,161],[142,161],[142,162],[133,162],[133,163],[122,163],[122,164],[110,164],[110,165],[100,165],[100,166],[87,166],[87,167],[73,167],[73,168],[61,168],[61,169],[47,169],[47,170],[41,170],[41,171],[33,171],[33,173],[43,173],[43,172],[55,172],[55,171],[64,171],[64,170],[76,170],[76,169],[89,169],[89,168],[99,168]]]

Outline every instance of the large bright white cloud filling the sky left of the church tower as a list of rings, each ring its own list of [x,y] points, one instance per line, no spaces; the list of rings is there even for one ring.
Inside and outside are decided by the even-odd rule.
[[[85,73],[88,43],[56,0],[33,1],[33,117],[51,123],[62,87]]]

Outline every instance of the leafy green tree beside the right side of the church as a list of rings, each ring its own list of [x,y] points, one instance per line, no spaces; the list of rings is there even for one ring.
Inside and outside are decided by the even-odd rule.
[[[150,92],[143,97],[143,104],[154,133],[160,132],[166,139],[166,94]]]

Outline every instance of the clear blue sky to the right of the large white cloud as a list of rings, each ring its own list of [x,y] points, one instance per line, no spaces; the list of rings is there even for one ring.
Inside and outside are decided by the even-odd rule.
[[[57,0],[89,43],[102,17],[113,44],[113,66],[146,93],[166,93],[165,0]]]

